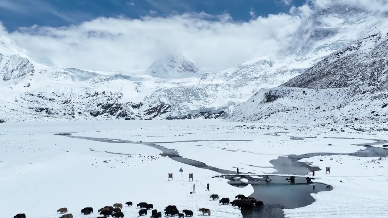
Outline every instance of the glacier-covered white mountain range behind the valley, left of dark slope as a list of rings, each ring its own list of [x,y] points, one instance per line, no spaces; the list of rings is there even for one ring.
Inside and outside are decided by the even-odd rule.
[[[297,43],[277,56],[217,72],[182,54],[161,57],[144,72],[60,68],[1,36],[0,119],[225,118],[258,89],[302,74],[383,21],[372,15],[338,5],[317,10],[290,36]]]

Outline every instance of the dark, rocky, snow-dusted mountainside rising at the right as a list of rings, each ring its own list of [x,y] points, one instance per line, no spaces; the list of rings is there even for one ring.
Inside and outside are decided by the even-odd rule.
[[[276,123],[386,123],[388,23],[276,88],[262,89],[228,119]]]

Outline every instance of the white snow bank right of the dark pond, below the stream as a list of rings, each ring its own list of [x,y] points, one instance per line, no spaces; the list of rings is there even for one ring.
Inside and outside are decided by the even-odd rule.
[[[333,185],[334,189],[312,194],[316,201],[311,205],[284,209],[286,218],[378,218],[388,212],[387,157],[335,155],[316,156],[300,161],[312,162],[312,165],[323,169],[315,172],[314,182]],[[325,167],[330,167],[330,174],[325,174]]]

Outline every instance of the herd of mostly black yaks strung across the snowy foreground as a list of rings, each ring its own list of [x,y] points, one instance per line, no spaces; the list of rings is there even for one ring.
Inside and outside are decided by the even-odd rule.
[[[213,200],[219,200],[219,197],[217,194],[212,194],[210,196]],[[262,201],[257,201],[253,197],[245,197],[244,195],[237,195],[235,198],[237,200],[230,201],[229,198],[223,197],[220,201],[220,204],[231,204],[232,206],[237,206],[241,210],[249,210],[253,209],[254,207],[262,207],[264,206],[264,203]],[[132,206],[132,202],[128,201],[125,203],[127,206]],[[162,212],[158,212],[158,210],[154,209],[154,206],[152,204],[148,204],[146,202],[140,202],[137,204],[137,207],[140,208],[139,210],[139,216],[142,215],[147,215],[148,211],[152,209],[151,211],[151,217],[152,218],[161,218],[162,217]],[[113,206],[105,206],[103,208],[100,208],[97,212],[102,215],[99,216],[98,218],[106,218],[111,216],[112,218],[123,218],[124,213],[121,212],[121,209],[123,208],[123,204],[116,203],[113,204]],[[210,209],[207,208],[200,208],[198,211],[202,212],[203,215],[207,214],[210,216]],[[60,208],[57,210],[57,213],[67,213],[68,209],[67,208]],[[81,209],[81,214],[88,215],[90,213],[93,213],[93,208],[87,207]],[[193,216],[193,211],[184,209],[182,210],[182,213],[179,213],[179,210],[177,209],[177,206],[175,205],[168,205],[165,210],[164,214],[166,216],[178,216],[180,217],[185,217],[185,216]],[[14,218],[26,218],[26,215],[24,213],[19,213]],[[59,218],[73,218],[73,215],[71,213],[64,214],[62,216],[59,216]]]

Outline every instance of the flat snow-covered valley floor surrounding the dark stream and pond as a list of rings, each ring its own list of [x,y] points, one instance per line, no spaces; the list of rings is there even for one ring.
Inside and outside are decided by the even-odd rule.
[[[158,149],[147,145],[54,135],[68,132],[85,137],[155,142],[209,166],[232,171],[238,167],[240,172],[257,174],[273,173],[269,161],[278,156],[309,152],[349,153],[365,149],[352,144],[373,142],[324,137],[388,138],[387,132],[359,133],[346,129],[337,133],[313,126],[209,120],[3,123],[0,125],[0,202],[2,208],[7,208],[2,211],[3,217],[26,213],[27,217],[56,218],[55,211],[62,207],[67,207],[74,217],[96,217],[96,212],[84,216],[80,215],[80,210],[93,207],[97,211],[114,203],[145,201],[154,204],[158,211],[171,204],[180,210],[194,211],[194,216],[202,215],[198,208],[209,208],[212,217],[234,218],[242,217],[240,211],[210,201],[210,194],[233,199],[237,194],[253,192],[250,185],[233,187],[223,178],[212,178],[218,174],[214,171],[178,163],[160,156]],[[291,137],[309,136],[316,138],[290,140]],[[182,142],[188,140],[246,141]],[[324,161],[320,162],[318,158]],[[317,171],[315,176],[318,181],[333,185],[334,190],[314,194],[317,201],[310,206],[285,209],[286,217],[310,216],[312,210],[315,217],[361,217],[352,211],[369,211],[369,217],[381,217],[387,212],[382,205],[388,204],[388,168],[379,167],[387,165],[386,159],[338,155],[301,161],[313,162],[323,169],[330,163],[330,175]],[[179,168],[184,170],[182,181]],[[173,173],[173,181],[167,181],[168,173]],[[188,182],[188,173],[194,173],[194,182]],[[205,191],[206,183],[210,183],[210,192]],[[194,184],[196,193],[190,194]],[[354,204],[352,199],[355,199]],[[364,199],[367,202],[363,202]],[[265,202],[265,199],[261,200]],[[350,204],[346,209],[345,203]],[[123,209],[125,217],[137,217],[138,211],[135,205]],[[326,211],[330,216],[325,216]]]

